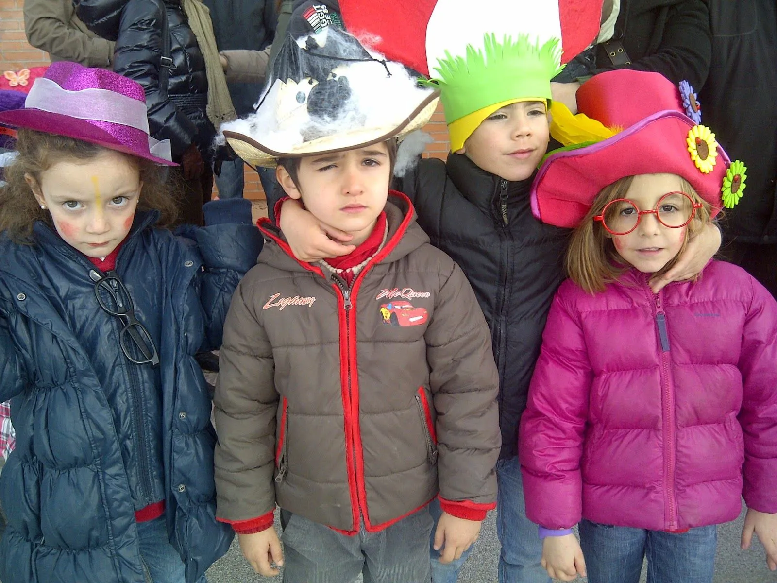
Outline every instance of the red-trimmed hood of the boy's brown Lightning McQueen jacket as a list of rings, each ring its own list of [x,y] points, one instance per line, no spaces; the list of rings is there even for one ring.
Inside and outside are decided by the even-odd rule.
[[[389,200],[386,201],[384,211],[389,224],[389,237],[374,263],[392,263],[406,257],[424,243],[429,243],[429,237],[416,223],[413,203],[404,194],[389,190]],[[263,218],[257,224],[267,242],[275,243],[263,247],[257,263],[268,264],[284,271],[313,271],[323,275],[321,267],[294,257],[283,232],[269,218]]]

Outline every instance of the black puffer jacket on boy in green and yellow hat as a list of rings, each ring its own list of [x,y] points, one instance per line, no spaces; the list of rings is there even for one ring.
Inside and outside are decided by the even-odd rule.
[[[515,456],[545,319],[566,277],[569,231],[531,215],[531,179],[508,182],[464,155],[422,159],[400,186],[432,245],[453,257],[475,290],[499,369],[500,457]]]

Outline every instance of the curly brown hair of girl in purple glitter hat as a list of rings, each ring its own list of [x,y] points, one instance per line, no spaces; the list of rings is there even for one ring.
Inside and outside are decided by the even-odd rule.
[[[40,183],[40,174],[62,160],[86,161],[104,152],[106,148],[86,141],[66,138],[42,131],[19,130],[16,141],[19,155],[5,168],[5,187],[0,188],[0,232],[5,231],[16,243],[31,243],[36,221],[54,226],[51,216],[40,208],[25,175]],[[122,152],[118,152],[122,153]],[[165,172],[151,160],[123,154],[141,173],[143,189],[138,210],[160,212],[157,226],[166,227],[176,219],[176,203],[165,183]]]

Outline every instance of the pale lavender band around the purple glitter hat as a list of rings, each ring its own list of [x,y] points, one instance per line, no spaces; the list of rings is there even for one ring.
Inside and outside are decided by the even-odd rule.
[[[58,113],[86,121],[103,121],[133,127],[148,135],[145,103],[109,89],[62,89],[51,79],[35,79],[24,103],[49,113]],[[172,161],[169,140],[156,140],[148,135],[148,150],[158,158]]]

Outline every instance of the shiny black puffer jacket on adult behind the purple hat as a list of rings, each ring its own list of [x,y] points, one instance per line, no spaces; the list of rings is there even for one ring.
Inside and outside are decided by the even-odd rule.
[[[216,133],[207,119],[205,61],[180,0],[75,0],[78,18],[100,37],[116,41],[113,71],[143,86],[151,134],[169,139],[172,159],[195,143],[206,154]],[[164,5],[172,68],[160,86]]]

